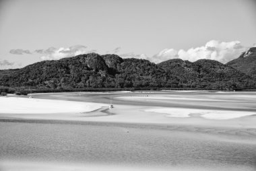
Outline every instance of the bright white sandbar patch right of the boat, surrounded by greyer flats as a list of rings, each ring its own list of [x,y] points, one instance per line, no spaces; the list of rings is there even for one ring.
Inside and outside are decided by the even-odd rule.
[[[145,112],[157,112],[168,114],[168,117],[190,117],[193,115],[199,115],[207,119],[232,119],[232,118],[241,118],[243,116],[251,116],[256,114],[256,112],[244,112],[244,111],[232,111],[232,110],[201,110],[201,109],[192,109],[192,108],[152,108],[144,110]]]

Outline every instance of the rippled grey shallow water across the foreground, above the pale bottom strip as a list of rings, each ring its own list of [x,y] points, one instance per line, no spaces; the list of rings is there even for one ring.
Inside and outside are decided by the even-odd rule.
[[[256,141],[197,131],[104,125],[0,123],[0,159],[131,166],[256,168]],[[2,162],[3,163],[3,162]],[[1,166],[1,164],[0,164]]]

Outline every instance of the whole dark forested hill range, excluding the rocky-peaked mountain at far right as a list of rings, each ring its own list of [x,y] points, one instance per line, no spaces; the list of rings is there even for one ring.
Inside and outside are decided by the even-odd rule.
[[[9,72],[8,72],[9,71]],[[58,61],[42,61],[22,69],[0,71],[0,86],[20,89],[88,88],[255,88],[249,75],[217,61],[181,59],[158,65],[143,59],[90,53]]]

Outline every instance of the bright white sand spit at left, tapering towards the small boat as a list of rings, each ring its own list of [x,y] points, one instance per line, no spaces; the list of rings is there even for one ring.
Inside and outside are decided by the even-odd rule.
[[[45,100],[38,98],[1,97],[0,113],[49,114],[69,112],[90,112],[106,104],[71,102],[66,100]]]

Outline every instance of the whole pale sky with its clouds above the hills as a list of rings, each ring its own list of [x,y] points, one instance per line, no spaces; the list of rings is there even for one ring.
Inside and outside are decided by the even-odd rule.
[[[0,69],[84,53],[226,63],[256,46],[255,0],[0,0]]]

